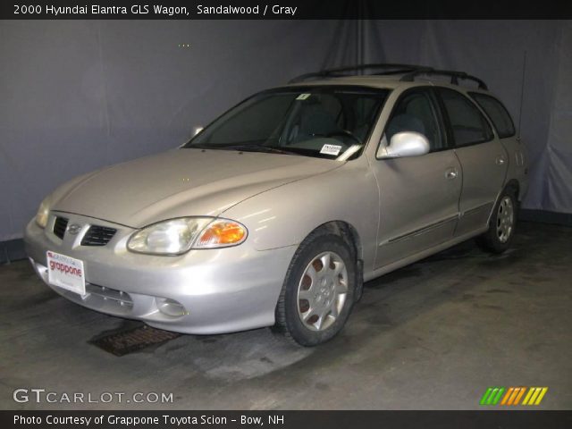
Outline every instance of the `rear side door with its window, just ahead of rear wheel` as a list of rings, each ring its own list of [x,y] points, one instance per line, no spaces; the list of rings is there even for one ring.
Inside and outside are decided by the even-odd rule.
[[[475,103],[450,88],[437,88],[449,137],[461,165],[463,184],[455,236],[487,226],[502,188],[508,157],[501,141]]]

